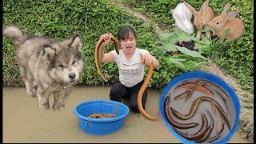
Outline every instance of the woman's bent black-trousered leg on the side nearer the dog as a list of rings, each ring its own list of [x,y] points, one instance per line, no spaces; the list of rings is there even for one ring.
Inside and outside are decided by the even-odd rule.
[[[121,102],[126,92],[126,86],[123,86],[121,82],[115,82],[110,90],[110,100]]]

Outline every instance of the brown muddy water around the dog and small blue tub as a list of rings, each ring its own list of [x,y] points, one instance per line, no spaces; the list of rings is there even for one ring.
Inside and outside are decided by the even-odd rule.
[[[26,95],[25,87],[3,87],[3,142],[180,142],[160,120],[151,122],[130,112],[122,128],[113,134],[91,135],[79,129],[74,106],[90,99],[109,99],[110,86],[75,86],[66,109],[53,112],[38,109],[37,98]],[[161,93],[149,90],[146,112],[160,118]],[[50,104],[53,98],[50,97]],[[126,101],[124,103],[127,104]],[[236,132],[230,142],[249,143]]]

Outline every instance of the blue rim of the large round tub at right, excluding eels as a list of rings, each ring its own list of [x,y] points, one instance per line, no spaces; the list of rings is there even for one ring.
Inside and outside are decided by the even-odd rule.
[[[234,111],[235,111],[235,119],[234,119],[234,125],[232,126],[230,133],[227,134],[224,138],[219,139],[217,142],[212,142],[212,143],[227,143],[234,132],[238,128],[238,120],[239,120],[239,114],[240,114],[240,103],[238,100],[237,94],[235,94],[234,90],[224,81],[222,78],[219,78],[218,76],[214,74],[209,74],[206,72],[201,72],[201,71],[192,71],[189,73],[185,73],[182,75],[179,75],[178,77],[175,77],[167,86],[166,88],[162,91],[160,102],[159,102],[159,110],[160,110],[160,115],[162,118],[162,121],[165,123],[166,127],[168,130],[170,130],[171,134],[174,135],[175,138],[178,138],[179,141],[183,143],[196,143],[193,141],[190,141],[186,138],[183,138],[181,135],[179,135],[169,124],[169,122],[166,120],[165,114],[164,114],[164,101],[166,98],[166,94],[171,90],[171,88],[177,84],[178,82],[182,82],[186,79],[190,78],[200,78],[200,79],[205,79],[210,82],[214,82],[215,84],[218,84],[218,86],[222,87],[223,90],[226,90],[226,92],[230,95],[230,98],[232,99],[234,103]]]

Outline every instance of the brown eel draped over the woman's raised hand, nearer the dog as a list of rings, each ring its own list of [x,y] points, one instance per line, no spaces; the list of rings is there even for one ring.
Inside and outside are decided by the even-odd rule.
[[[116,52],[119,54],[119,44],[118,44],[118,40],[114,37],[111,38],[111,40],[114,42],[115,44],[115,50]],[[96,64],[96,67],[97,67],[97,70],[98,70],[98,73],[101,75],[101,77],[103,78],[103,80],[105,82],[107,82],[106,78],[104,77],[104,75],[102,74],[102,70],[99,66],[99,61],[98,61],[98,50],[100,48],[100,46],[102,45],[102,42],[103,42],[103,39],[100,39],[98,42],[97,42],[97,45],[95,46],[95,50],[94,50],[94,58],[95,58],[95,64]]]

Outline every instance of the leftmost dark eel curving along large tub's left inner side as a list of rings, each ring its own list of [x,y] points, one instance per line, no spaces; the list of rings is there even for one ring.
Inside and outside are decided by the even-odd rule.
[[[166,120],[170,123],[171,126],[177,127],[179,129],[189,129],[195,126],[198,126],[199,124],[197,122],[191,122],[191,123],[180,123],[174,120],[170,116],[170,95],[168,95],[164,102],[164,113],[166,116]]]

